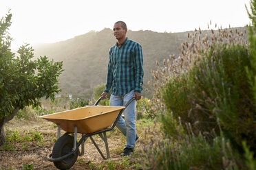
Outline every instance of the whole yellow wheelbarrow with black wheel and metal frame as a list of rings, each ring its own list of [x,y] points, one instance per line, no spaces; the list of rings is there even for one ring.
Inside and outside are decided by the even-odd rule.
[[[83,156],[85,154],[84,143],[87,138],[92,140],[103,159],[110,158],[106,132],[114,129],[122,112],[134,101],[135,97],[130,99],[126,106],[97,106],[100,99],[101,97],[94,106],[85,106],[39,117],[58,125],[57,141],[54,144],[52,153],[47,155],[47,160],[54,162],[55,167],[58,169],[70,169],[76,162],[78,155]],[[61,136],[61,129],[65,130],[63,136]],[[77,142],[78,133],[82,135]],[[107,157],[104,156],[94,138],[92,138],[96,134],[105,143]],[[78,149],[80,145],[81,151]]]

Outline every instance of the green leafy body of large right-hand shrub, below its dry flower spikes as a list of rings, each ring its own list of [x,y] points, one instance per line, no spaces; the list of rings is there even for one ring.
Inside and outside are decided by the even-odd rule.
[[[184,122],[190,122],[197,134],[219,130],[219,118],[224,134],[234,145],[242,148],[242,141],[246,140],[256,148],[256,111],[246,66],[251,69],[246,47],[213,46],[189,72],[171,78],[162,87],[167,110],[173,112],[175,119],[182,117]],[[162,123],[170,126],[168,121]]]

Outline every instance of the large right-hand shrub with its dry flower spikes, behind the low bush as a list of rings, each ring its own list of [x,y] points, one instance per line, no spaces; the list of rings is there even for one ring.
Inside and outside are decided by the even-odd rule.
[[[162,112],[173,112],[174,119],[181,117],[183,125],[191,123],[195,134],[202,132],[209,141],[220,131],[220,119],[225,136],[240,151],[243,140],[256,148],[256,110],[245,68],[253,75],[256,72],[245,35],[219,29],[218,34],[212,31],[210,37],[200,38],[200,32],[195,32],[191,42],[182,44],[179,58],[167,60],[163,69],[153,71],[152,84],[156,89],[153,101]],[[169,115],[162,114],[161,120],[164,129],[171,132]]]

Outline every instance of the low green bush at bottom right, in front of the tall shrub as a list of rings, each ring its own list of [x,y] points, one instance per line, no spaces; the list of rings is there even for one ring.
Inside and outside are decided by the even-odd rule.
[[[182,133],[182,132],[181,132]],[[189,135],[182,140],[166,139],[151,145],[145,155],[145,164],[151,169],[239,169],[238,156],[224,138],[216,137],[213,144],[204,136]]]

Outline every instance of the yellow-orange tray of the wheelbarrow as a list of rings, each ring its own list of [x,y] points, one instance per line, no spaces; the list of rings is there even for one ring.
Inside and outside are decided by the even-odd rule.
[[[112,125],[120,110],[124,108],[124,106],[86,106],[43,115],[39,118],[60,125],[61,129],[66,132],[74,133],[74,126],[76,125],[78,133],[90,134]]]

